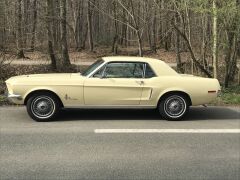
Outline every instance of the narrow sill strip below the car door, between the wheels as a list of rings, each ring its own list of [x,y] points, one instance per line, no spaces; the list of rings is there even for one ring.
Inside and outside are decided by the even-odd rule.
[[[144,105],[82,105],[82,106],[64,106],[64,108],[77,108],[77,109],[155,109],[156,106]]]

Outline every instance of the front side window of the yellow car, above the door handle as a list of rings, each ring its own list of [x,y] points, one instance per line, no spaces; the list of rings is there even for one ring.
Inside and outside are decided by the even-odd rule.
[[[142,78],[143,63],[109,63],[104,75],[106,78]]]

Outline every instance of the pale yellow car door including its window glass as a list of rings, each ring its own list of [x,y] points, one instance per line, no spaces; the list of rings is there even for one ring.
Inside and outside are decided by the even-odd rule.
[[[84,82],[86,105],[139,105],[143,87],[143,64],[110,62]]]

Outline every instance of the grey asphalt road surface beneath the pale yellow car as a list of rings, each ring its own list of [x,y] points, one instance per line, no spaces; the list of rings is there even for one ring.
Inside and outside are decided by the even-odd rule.
[[[152,110],[65,110],[40,123],[1,107],[0,179],[240,179],[240,133],[96,129],[240,129],[240,110],[196,107],[177,122]]]

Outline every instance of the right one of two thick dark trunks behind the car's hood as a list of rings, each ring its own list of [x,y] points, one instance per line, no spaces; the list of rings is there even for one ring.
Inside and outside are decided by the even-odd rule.
[[[61,0],[61,54],[62,62],[60,62],[60,69],[69,68],[70,60],[67,45],[67,27],[66,27],[66,14],[67,14],[66,0]]]

